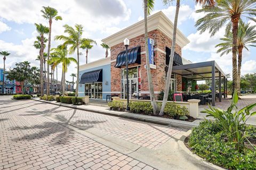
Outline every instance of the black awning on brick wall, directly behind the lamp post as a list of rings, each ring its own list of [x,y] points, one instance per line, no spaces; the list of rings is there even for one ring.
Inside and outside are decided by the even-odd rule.
[[[127,57],[128,64],[140,64],[140,46],[128,49]],[[125,51],[117,55],[115,67],[121,67],[123,65],[126,65]]]

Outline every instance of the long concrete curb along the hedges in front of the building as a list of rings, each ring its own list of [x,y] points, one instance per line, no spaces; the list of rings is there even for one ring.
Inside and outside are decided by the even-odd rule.
[[[117,113],[117,112],[111,112],[111,111],[99,111],[97,109],[81,108],[76,105],[68,105],[68,104],[63,104],[63,103],[52,103],[52,102],[46,101],[46,100],[38,100],[38,99],[32,99],[32,100],[41,101],[43,103],[48,103],[48,104],[57,105],[57,106],[75,108],[75,109],[79,109],[79,110],[87,111],[87,112],[94,112],[94,113],[122,117],[122,118],[130,118],[130,119],[136,120],[136,121],[149,122],[149,123],[155,123],[155,124],[161,124],[161,125],[171,125],[174,127],[179,127],[179,128],[182,127],[185,129],[190,129],[194,126],[198,126],[199,123],[201,122],[201,120],[195,120],[194,122],[186,122],[186,121],[172,120],[169,118],[132,114],[132,113],[126,113],[126,112]]]

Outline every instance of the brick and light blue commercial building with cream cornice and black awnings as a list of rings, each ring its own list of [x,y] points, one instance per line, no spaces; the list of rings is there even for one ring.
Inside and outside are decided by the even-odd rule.
[[[80,66],[79,96],[89,95],[95,99],[105,99],[106,95],[118,95],[121,98],[127,97],[126,55],[123,43],[125,38],[130,40],[127,53],[129,98],[136,99],[138,96],[148,96],[149,88],[144,34],[145,28],[144,21],[142,20],[114,35],[102,39],[102,42],[110,47],[111,55],[108,58],[102,58],[101,60]],[[148,17],[149,61],[156,95],[165,86],[169,56],[171,54],[172,36],[173,23],[163,12],[158,12]],[[187,91],[189,87],[195,91],[197,80],[215,80],[217,77],[223,79],[220,82],[226,84],[225,73],[221,71],[214,61],[191,63],[182,57],[182,48],[188,43],[187,37],[180,30],[177,30],[173,72],[170,82],[171,90],[182,92]]]

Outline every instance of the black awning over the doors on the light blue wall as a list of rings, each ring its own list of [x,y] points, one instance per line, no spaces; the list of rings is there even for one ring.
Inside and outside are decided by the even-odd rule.
[[[80,84],[102,82],[102,69],[85,72],[82,74]]]

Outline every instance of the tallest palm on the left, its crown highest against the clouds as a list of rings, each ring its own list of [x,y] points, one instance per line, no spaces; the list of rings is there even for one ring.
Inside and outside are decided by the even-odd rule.
[[[47,49],[47,60],[49,60],[50,57],[50,49],[51,49],[51,32],[52,32],[52,20],[55,19],[56,21],[62,20],[61,16],[58,16],[58,11],[50,6],[43,6],[43,10],[41,10],[43,13],[43,18],[46,20],[49,20],[49,41],[48,41],[48,49]],[[50,95],[50,80],[49,80],[49,73],[50,68],[49,64],[47,64],[47,90],[46,94]],[[52,83],[52,82],[51,82]]]

